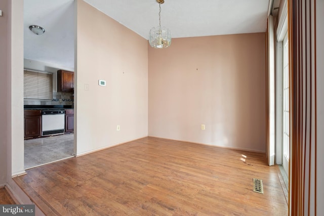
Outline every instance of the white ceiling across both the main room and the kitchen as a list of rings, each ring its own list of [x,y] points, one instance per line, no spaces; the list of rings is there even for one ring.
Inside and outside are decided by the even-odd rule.
[[[84,0],[138,33],[158,25],[155,0]],[[165,0],[161,25],[172,37],[265,32],[271,0]],[[24,57],[74,68],[74,1],[24,0]],[[28,26],[45,28],[33,34]]]

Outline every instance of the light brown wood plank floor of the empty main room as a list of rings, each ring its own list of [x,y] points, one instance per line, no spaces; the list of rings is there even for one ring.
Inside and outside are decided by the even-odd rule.
[[[47,215],[288,215],[261,153],[148,137],[27,172],[14,181]]]

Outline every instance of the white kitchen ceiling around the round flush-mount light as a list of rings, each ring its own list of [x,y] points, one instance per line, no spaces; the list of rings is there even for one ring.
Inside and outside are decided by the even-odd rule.
[[[32,33],[30,25],[45,33]],[[24,0],[24,58],[74,68],[73,0]]]

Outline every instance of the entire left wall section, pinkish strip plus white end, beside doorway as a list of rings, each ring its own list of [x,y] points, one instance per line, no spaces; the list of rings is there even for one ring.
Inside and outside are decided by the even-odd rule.
[[[23,0],[0,1],[0,185],[24,170]],[[14,13],[13,13],[14,12]],[[14,28],[12,28],[14,26]]]

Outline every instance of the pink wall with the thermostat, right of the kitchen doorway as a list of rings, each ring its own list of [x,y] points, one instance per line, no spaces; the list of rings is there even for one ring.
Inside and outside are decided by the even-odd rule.
[[[77,154],[146,137],[147,40],[80,0],[76,36]]]

